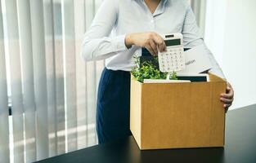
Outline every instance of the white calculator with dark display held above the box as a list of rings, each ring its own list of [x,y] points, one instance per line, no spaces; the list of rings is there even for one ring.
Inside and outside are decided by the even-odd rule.
[[[162,35],[166,51],[158,53],[159,70],[173,73],[185,69],[185,56],[182,33]]]

